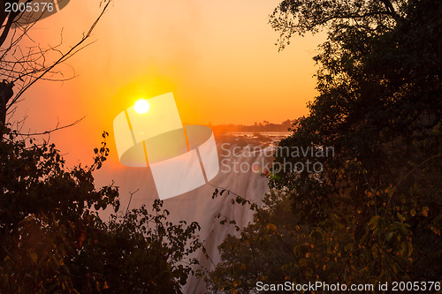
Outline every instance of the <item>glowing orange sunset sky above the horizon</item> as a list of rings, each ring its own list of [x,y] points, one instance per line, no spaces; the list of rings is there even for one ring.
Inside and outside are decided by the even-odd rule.
[[[98,15],[98,4],[72,0],[35,26],[34,41],[57,44],[63,27],[67,48]],[[192,124],[280,123],[305,115],[316,94],[311,57],[324,37],[297,37],[278,52],[278,34],[268,24],[277,4],[115,0],[96,27],[95,43],[60,67],[79,76],[38,83],[16,117],[27,115],[27,128],[44,131],[87,116],[51,137],[76,159],[91,155],[101,132],[111,133],[113,118],[141,96],[173,92],[182,121]]]

